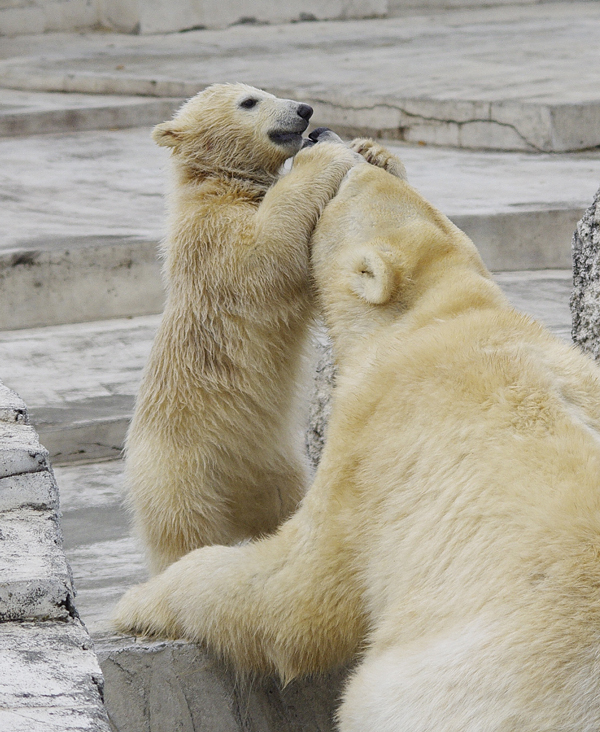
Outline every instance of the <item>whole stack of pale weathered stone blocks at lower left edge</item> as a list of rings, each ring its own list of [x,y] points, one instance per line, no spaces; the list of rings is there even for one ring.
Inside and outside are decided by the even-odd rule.
[[[103,678],[73,606],[48,452],[0,384],[0,729],[110,732]]]

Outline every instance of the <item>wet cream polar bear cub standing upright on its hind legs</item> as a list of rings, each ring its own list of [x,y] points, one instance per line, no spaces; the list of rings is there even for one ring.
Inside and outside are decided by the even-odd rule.
[[[220,84],[154,130],[172,151],[168,295],[126,443],[129,503],[154,571],[273,531],[307,488],[295,403],[308,242],[356,158],[307,149],[279,179],[311,111]]]

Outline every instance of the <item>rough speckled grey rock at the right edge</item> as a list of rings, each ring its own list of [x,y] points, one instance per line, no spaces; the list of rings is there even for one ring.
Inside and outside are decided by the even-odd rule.
[[[573,235],[573,342],[600,358],[600,189]]]

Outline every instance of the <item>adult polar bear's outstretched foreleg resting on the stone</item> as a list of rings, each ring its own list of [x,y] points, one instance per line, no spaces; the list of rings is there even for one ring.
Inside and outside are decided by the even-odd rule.
[[[116,627],[206,643],[238,669],[286,681],[349,660],[365,635],[359,585],[342,542],[304,509],[272,537],[198,549],[134,587]]]

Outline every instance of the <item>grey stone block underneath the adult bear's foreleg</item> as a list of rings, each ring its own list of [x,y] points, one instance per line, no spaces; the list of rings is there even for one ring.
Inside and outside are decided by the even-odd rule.
[[[182,641],[97,639],[105,703],[118,732],[333,732],[347,671],[294,681],[240,680]]]

